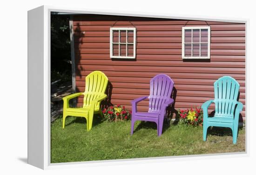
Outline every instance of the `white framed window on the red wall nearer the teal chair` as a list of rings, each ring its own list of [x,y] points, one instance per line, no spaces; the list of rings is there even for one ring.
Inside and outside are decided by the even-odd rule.
[[[182,59],[209,59],[210,38],[210,26],[182,27]]]

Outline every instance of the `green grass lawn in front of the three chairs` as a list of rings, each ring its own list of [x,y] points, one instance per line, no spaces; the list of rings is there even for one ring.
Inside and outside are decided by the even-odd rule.
[[[111,123],[94,116],[90,131],[82,117],[67,117],[65,129],[61,124],[61,116],[51,124],[51,163],[245,151],[244,128],[239,129],[234,145],[227,128],[209,128],[203,142],[202,127],[165,124],[158,137],[151,122],[137,121],[133,136],[130,121]]]

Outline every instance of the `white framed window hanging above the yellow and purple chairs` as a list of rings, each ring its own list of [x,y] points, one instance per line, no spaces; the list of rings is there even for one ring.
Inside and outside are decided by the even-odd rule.
[[[110,27],[110,58],[135,58],[136,28]]]

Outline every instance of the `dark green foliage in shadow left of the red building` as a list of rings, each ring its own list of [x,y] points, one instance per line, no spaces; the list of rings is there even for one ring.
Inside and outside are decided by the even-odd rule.
[[[57,79],[71,80],[69,15],[51,14],[51,82]]]

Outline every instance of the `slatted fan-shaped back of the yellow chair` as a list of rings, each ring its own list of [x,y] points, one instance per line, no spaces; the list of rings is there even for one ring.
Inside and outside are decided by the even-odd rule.
[[[85,78],[83,107],[89,107],[92,100],[105,94],[108,77],[101,71],[93,71]],[[95,110],[100,109],[100,102],[95,104]]]

